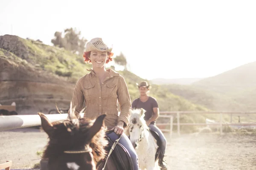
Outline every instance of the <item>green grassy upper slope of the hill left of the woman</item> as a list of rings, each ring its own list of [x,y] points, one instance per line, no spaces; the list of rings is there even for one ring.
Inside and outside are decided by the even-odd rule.
[[[34,68],[66,77],[69,82],[76,82],[79,77],[86,74],[89,64],[83,58],[72,54],[63,48],[45,45],[40,41],[25,40],[17,36],[0,36],[0,48],[26,60]]]

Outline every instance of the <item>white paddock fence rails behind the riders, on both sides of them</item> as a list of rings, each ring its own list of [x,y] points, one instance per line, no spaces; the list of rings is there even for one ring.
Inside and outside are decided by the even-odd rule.
[[[163,132],[169,132],[170,136],[172,136],[173,126],[177,126],[177,133],[180,135],[180,126],[181,125],[209,125],[207,123],[180,123],[180,114],[216,114],[220,115],[220,121],[211,124],[220,126],[220,131],[222,133],[222,126],[225,125],[255,125],[255,123],[222,123],[222,115],[223,114],[230,114],[230,122],[232,122],[232,115],[239,114],[241,116],[245,116],[247,114],[256,114],[256,112],[205,112],[205,111],[162,111],[160,112],[160,116],[162,118],[169,119],[168,123],[157,123],[157,125],[167,125],[169,126],[168,129],[160,128]],[[46,114],[47,118],[50,122],[58,121],[67,119],[67,114]],[[83,116],[83,113],[81,113]],[[177,118],[177,123],[173,123],[173,117]],[[11,130],[17,129],[22,127],[32,127],[32,126],[39,126],[41,125],[41,118],[39,115],[13,115],[13,116],[0,116],[0,131],[1,130]]]

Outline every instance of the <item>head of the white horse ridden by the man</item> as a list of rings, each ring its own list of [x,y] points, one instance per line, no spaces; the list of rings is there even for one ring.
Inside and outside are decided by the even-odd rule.
[[[140,109],[132,109],[130,116],[130,126],[127,131],[128,135],[130,135],[131,143],[134,148],[137,147],[137,142],[139,142],[143,138],[143,131],[145,129],[148,130],[148,126],[144,119],[145,110],[143,108]]]

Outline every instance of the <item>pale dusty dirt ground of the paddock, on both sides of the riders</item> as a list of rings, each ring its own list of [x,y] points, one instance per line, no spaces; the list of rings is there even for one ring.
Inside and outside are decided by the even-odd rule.
[[[255,170],[256,136],[232,134],[183,134],[168,139],[169,170]],[[12,160],[12,169],[30,169],[39,163],[37,151],[47,135],[36,128],[0,131],[0,163]]]

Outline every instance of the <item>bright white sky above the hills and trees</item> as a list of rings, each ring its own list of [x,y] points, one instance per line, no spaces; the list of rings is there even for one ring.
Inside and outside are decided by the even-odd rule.
[[[0,35],[52,45],[77,28],[145,79],[211,77],[256,61],[255,0],[1,0]]]

